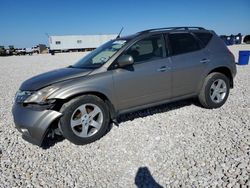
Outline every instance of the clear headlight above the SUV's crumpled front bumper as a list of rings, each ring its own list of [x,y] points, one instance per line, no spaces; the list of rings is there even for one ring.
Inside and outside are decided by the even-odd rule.
[[[59,88],[57,87],[43,88],[26,98],[26,100],[24,100],[24,103],[45,103],[48,97],[58,89]]]

